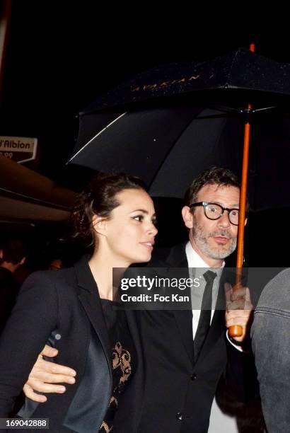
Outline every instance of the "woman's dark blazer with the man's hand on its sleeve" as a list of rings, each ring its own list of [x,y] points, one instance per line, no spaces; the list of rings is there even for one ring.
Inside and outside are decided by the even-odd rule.
[[[133,311],[127,311],[137,351],[137,371],[124,391],[116,432],[137,432],[143,396],[141,344]],[[83,258],[66,270],[35,272],[21,289],[0,341],[0,417],[8,417],[47,340],[56,362],[77,371],[76,384],[47,403],[28,403],[24,417],[50,418],[50,431],[98,432],[112,395],[112,353],[98,289]]]

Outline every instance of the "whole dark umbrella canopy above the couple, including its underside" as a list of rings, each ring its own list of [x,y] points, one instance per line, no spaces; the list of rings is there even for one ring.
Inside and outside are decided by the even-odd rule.
[[[80,113],[70,161],[134,173],[151,185],[153,195],[182,197],[205,168],[240,173],[248,113],[243,108],[250,98],[259,113],[252,129],[250,201],[256,209],[285,206],[290,200],[280,186],[289,182],[284,168],[290,123],[273,110],[262,113],[284,105],[288,95],[290,65],[243,49],[209,62],[153,69]]]

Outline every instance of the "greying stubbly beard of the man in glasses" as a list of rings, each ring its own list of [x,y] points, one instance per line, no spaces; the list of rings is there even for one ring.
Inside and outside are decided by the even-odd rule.
[[[220,246],[210,246],[209,239],[215,238],[216,236],[226,236],[230,240],[229,245],[220,245]],[[202,227],[199,226],[195,216],[193,216],[193,227],[192,227],[192,237],[199,248],[199,250],[207,257],[215,260],[221,260],[236,250],[237,246],[237,238],[233,237],[231,232],[226,229],[219,229],[213,231],[212,233],[204,233]]]

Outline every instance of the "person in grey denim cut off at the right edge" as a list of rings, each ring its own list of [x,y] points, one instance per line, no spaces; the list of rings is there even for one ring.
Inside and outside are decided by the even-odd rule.
[[[290,270],[262,291],[251,328],[262,410],[269,433],[290,432]]]

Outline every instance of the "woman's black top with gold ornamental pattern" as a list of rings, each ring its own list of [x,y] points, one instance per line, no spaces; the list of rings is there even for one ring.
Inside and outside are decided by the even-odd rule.
[[[112,396],[100,426],[101,433],[112,432],[115,412],[124,388],[136,369],[137,356],[125,311],[114,308],[114,302],[100,299],[112,347]]]

